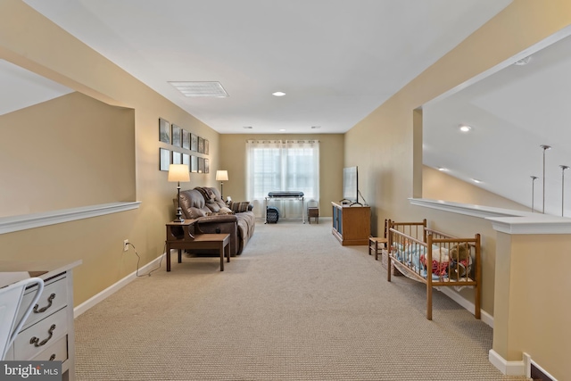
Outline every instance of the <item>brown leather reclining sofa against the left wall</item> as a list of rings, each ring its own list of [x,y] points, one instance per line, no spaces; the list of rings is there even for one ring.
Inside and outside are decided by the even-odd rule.
[[[180,208],[184,219],[198,219],[195,229],[203,233],[228,233],[230,253],[240,255],[253,236],[255,217],[252,204],[226,204],[215,187],[197,186],[180,191]]]

